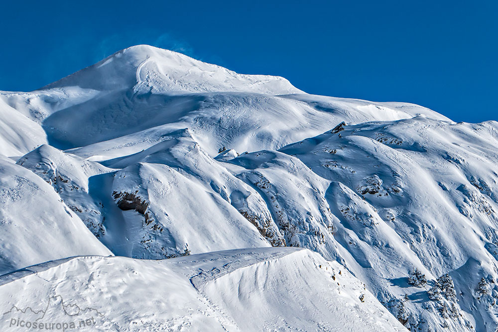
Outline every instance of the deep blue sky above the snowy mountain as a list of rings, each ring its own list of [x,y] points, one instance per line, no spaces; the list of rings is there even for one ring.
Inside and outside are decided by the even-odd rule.
[[[498,1],[4,1],[0,90],[30,91],[135,44],[308,93],[498,120]]]

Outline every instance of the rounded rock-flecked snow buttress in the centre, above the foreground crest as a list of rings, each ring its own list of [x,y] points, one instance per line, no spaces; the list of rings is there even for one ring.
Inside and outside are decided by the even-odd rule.
[[[228,162],[240,166],[226,164],[264,198],[287,245],[310,248],[326,258],[336,254],[332,236],[338,220],[325,200],[329,181],[277,151],[243,154]]]

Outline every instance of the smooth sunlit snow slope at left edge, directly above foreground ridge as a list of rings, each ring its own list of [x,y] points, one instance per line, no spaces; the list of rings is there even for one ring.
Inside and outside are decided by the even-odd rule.
[[[0,157],[0,274],[50,259],[111,255],[52,187]]]

